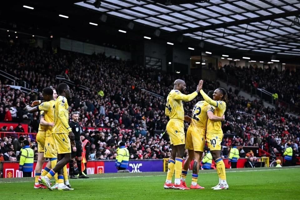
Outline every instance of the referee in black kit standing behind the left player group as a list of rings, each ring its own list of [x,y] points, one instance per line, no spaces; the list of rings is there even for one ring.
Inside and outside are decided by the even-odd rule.
[[[80,139],[80,133],[81,133],[81,127],[78,123],[78,118],[79,118],[79,113],[74,112],[72,113],[72,121],[69,123],[69,126],[72,128],[72,132],[75,135],[75,147],[72,148],[72,159],[71,162],[69,163],[70,166],[70,178],[76,178],[73,174],[74,172],[74,167],[73,167],[73,159],[77,158],[77,167],[78,167],[78,172],[79,172],[79,178],[89,178],[82,173],[81,169],[81,160],[82,160],[82,141]]]

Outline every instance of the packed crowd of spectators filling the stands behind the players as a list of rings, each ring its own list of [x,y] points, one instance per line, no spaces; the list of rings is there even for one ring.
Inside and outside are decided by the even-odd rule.
[[[143,68],[128,61],[107,58],[104,54],[91,56],[72,52],[58,51],[53,53],[40,48],[2,45],[0,49],[0,67],[13,76],[29,83],[31,92],[24,93],[10,88],[9,80],[0,84],[0,122],[27,123],[32,132],[37,132],[39,116],[28,114],[23,108],[34,100],[42,100],[41,91],[44,87],[56,88],[60,81],[56,75],[74,81],[70,86],[71,113],[80,113],[82,131],[91,142],[91,159],[115,159],[119,142],[126,143],[131,159],[158,159],[171,156],[170,144],[166,134],[161,134],[168,122],[164,115],[165,99],[173,88],[177,78],[186,80],[187,93],[195,91],[197,76],[183,76],[158,72]],[[245,82],[253,80],[259,84],[268,84],[260,78],[259,70],[236,69],[225,67],[225,71],[241,76],[250,70]],[[256,75],[258,74],[258,75]],[[272,74],[276,74],[275,72]],[[275,76],[275,75],[274,75]],[[252,80],[252,81],[253,81]],[[79,88],[89,87],[89,91]],[[288,87],[288,84],[281,84]],[[205,81],[204,90],[214,90],[217,82]],[[266,85],[267,87],[267,85]],[[273,87],[276,88],[276,87]],[[141,89],[161,95],[155,97]],[[281,90],[281,89],[280,89]],[[281,90],[283,91],[283,90]],[[228,91],[226,121],[222,124],[223,132],[234,135],[233,139],[224,138],[223,156],[229,154],[229,146],[259,146],[267,152],[283,153],[288,143],[292,143],[295,155],[298,154],[300,137],[300,121],[285,114],[284,108],[265,108],[262,101],[250,101],[238,95],[239,91]],[[281,93],[278,93],[282,95]],[[285,96],[287,94],[283,94]],[[186,114],[192,112],[195,103],[202,98],[197,97],[184,103]],[[188,124],[185,124],[187,128]],[[84,127],[94,127],[89,131]],[[2,132],[27,132],[22,125],[16,129],[0,127]],[[156,134],[156,130],[160,131]],[[18,158],[19,149],[24,139],[31,140],[31,146],[37,150],[34,138],[2,138],[1,155],[4,160]],[[243,152],[243,151],[242,151]],[[241,152],[241,154],[243,154]],[[187,156],[187,153],[186,155]],[[12,158],[10,158],[12,157]]]

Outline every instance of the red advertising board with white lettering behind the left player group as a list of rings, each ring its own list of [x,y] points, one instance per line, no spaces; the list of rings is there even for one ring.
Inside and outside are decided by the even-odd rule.
[[[36,162],[33,163],[33,169],[35,169]],[[43,168],[47,163],[44,163]],[[69,173],[69,164],[67,164]],[[31,174],[34,177],[35,171]],[[101,174],[104,173],[104,162],[103,161],[88,161],[87,164],[88,174]],[[23,177],[23,172],[19,171],[19,163],[15,162],[3,162],[3,178],[20,178]]]

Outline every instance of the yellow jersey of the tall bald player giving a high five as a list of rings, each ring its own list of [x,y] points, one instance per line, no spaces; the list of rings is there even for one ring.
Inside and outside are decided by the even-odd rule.
[[[171,90],[167,97],[165,115],[170,119],[178,119],[184,121],[184,109],[182,101],[189,102],[194,99],[198,93],[195,91],[185,95],[179,90]]]

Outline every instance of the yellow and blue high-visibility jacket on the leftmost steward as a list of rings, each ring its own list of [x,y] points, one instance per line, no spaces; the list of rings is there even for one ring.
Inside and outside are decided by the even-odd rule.
[[[34,153],[29,145],[21,149],[21,157],[19,163],[19,170],[22,172],[32,172]]]

